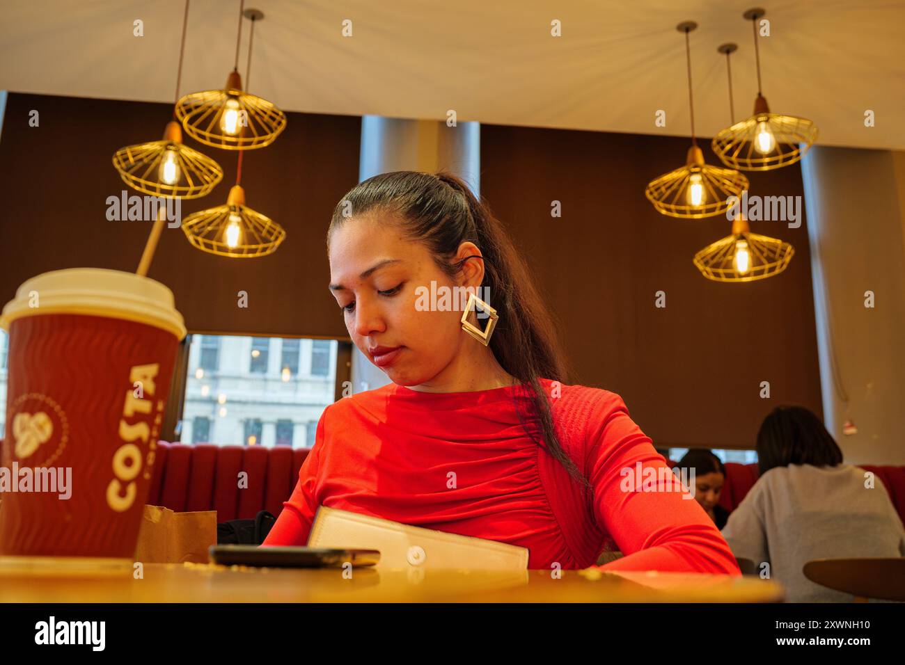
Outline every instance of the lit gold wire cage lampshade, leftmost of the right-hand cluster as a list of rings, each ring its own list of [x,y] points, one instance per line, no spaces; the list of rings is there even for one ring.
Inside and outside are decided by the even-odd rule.
[[[748,178],[731,168],[704,163],[700,147],[688,149],[685,166],[647,185],[644,195],[662,214],[700,219],[729,210],[729,197],[748,189]]]

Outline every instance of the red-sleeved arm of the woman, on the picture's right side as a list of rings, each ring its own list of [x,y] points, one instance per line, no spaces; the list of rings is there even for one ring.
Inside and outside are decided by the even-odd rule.
[[[693,489],[689,497],[622,398],[607,393],[594,417],[586,468],[595,518],[625,555],[600,567],[741,575]]]

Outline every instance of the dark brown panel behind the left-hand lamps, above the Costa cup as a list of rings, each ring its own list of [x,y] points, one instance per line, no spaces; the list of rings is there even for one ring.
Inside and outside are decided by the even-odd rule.
[[[29,127],[29,112],[39,126]],[[10,93],[0,137],[0,303],[40,272],[88,266],[134,271],[149,222],[107,220],[107,197],[129,189],[111,164],[119,147],[157,140],[172,107]],[[247,204],[286,229],[271,254],[230,259],[196,250],[167,228],[149,277],[173,290],[190,331],[348,338],[329,294],[325,236],[339,198],[358,180],[361,119],[289,113],[269,147],[243,157]],[[224,204],[237,153],[186,144],[213,157],[224,179],[201,199],[182,202],[186,217]],[[237,292],[248,293],[248,308]]]

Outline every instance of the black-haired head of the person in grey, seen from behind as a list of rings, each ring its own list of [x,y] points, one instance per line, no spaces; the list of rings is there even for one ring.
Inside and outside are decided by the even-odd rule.
[[[768,470],[789,464],[811,464],[815,467],[843,463],[843,451],[824,423],[803,406],[777,406],[757,432],[757,470]]]

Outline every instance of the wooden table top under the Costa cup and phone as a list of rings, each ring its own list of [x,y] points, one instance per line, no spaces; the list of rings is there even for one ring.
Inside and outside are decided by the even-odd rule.
[[[754,576],[598,570],[252,568],[145,564],[123,571],[0,570],[3,603],[773,603],[776,582]]]

